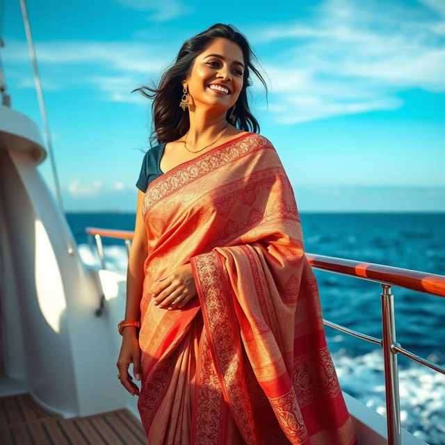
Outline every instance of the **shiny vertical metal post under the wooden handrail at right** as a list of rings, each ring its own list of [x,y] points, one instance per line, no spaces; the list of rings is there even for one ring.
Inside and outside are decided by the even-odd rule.
[[[394,295],[389,284],[380,283],[382,300],[382,348],[385,360],[385,395],[387,402],[388,444],[401,445],[401,412],[398,395],[398,369],[396,343],[396,323],[394,320]]]

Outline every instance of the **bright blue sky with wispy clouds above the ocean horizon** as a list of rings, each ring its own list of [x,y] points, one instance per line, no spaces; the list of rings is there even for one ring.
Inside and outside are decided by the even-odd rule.
[[[251,108],[300,211],[445,211],[445,1],[264,5],[27,1],[67,211],[136,209],[151,102],[131,90],[216,22],[259,58]],[[13,108],[42,129],[19,1],[2,22]]]

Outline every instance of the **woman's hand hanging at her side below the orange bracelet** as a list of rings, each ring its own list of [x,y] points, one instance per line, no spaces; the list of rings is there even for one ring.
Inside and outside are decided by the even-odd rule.
[[[124,327],[122,337],[122,346],[118,357],[118,370],[120,372],[120,382],[131,396],[140,395],[139,388],[131,380],[128,369],[130,363],[133,363],[133,374],[136,380],[140,380],[140,347],[136,337],[136,327]]]

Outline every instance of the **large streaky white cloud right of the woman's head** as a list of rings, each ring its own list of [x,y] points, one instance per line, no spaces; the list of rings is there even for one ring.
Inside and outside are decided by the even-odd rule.
[[[423,3],[433,14],[405,3],[327,0],[305,22],[252,27],[253,44],[287,48],[264,65],[275,121],[392,110],[408,88],[445,92],[445,3]]]

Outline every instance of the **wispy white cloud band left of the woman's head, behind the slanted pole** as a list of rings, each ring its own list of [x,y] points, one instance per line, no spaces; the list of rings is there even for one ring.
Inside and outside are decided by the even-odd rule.
[[[9,40],[5,51],[6,63],[28,64],[29,54],[24,42]],[[162,51],[154,47],[136,42],[92,42],[92,41],[52,41],[36,44],[38,62],[49,65],[102,65],[104,74],[89,76],[58,76],[55,79],[54,70],[47,70],[47,76],[42,79],[44,90],[63,90],[81,86],[89,82],[94,90],[102,91],[102,99],[111,102],[127,102],[142,104],[146,101],[138,92],[131,90],[156,80],[150,74],[158,74],[166,64],[161,58]],[[70,70],[73,68],[70,66]],[[81,72],[81,70],[79,70]],[[88,72],[88,71],[87,71]],[[118,72],[118,74],[108,74]],[[13,74],[17,79],[17,88],[35,88],[32,76]]]

